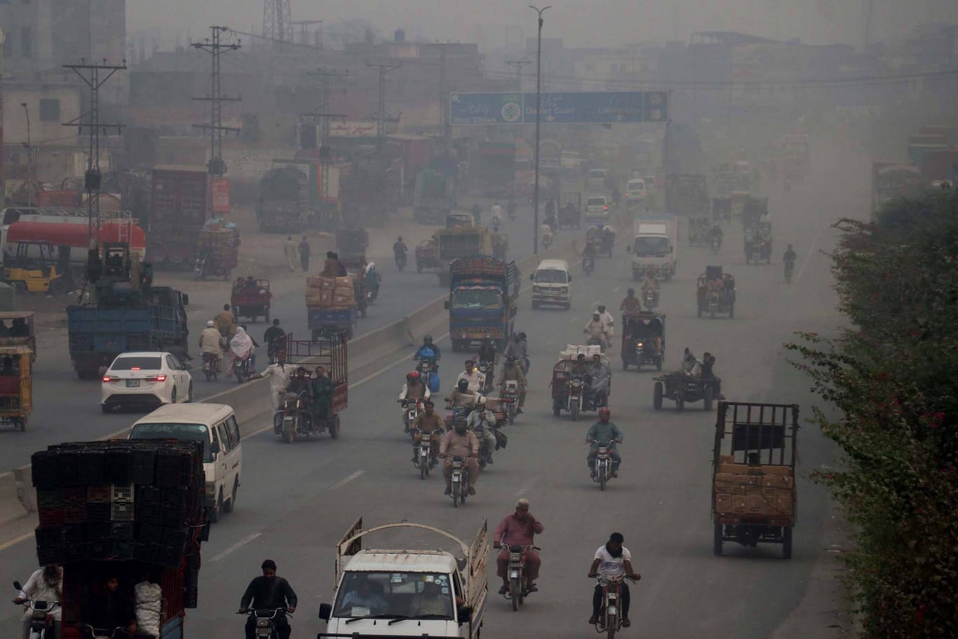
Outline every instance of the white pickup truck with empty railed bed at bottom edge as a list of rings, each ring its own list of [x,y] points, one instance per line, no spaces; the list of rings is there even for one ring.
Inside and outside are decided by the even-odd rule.
[[[479,639],[489,599],[486,566],[489,533],[486,521],[471,543],[440,528],[411,521],[363,529],[356,520],[336,544],[332,603],[319,606],[326,632],[333,637],[434,637]],[[432,533],[455,544],[453,552],[411,549],[407,543],[395,550],[364,549],[365,536],[374,533]],[[370,588],[388,605],[375,612],[352,605],[350,593]],[[428,614],[417,615],[420,603],[429,603]],[[443,612],[437,612],[442,603]]]

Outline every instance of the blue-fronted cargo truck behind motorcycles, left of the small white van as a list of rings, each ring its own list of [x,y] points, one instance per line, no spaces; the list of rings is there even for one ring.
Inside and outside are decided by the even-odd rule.
[[[500,352],[513,334],[518,313],[519,269],[515,262],[487,256],[449,264],[449,341],[467,351],[473,342],[490,339]]]

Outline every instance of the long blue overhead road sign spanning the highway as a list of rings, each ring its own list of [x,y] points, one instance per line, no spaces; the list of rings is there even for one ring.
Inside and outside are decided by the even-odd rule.
[[[543,93],[536,108],[535,93],[449,94],[453,126],[541,124],[626,124],[667,122],[664,91],[596,91]]]

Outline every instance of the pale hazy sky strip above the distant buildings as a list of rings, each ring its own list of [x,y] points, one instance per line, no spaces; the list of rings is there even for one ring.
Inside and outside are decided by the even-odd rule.
[[[541,1],[541,0],[540,0]],[[740,31],[820,44],[862,40],[863,7],[871,1],[874,37],[904,34],[931,20],[958,22],[955,0],[551,0],[544,35],[574,46],[640,39],[688,40],[696,31]],[[536,32],[528,0],[290,0],[293,20],[331,25],[367,18],[380,34],[405,29],[409,38],[478,41],[501,47],[506,30]],[[542,5],[547,2],[541,2]],[[263,0],[127,0],[127,29],[162,30],[164,49],[178,34],[197,39],[212,24],[259,33]],[[328,28],[328,27],[327,27]]]

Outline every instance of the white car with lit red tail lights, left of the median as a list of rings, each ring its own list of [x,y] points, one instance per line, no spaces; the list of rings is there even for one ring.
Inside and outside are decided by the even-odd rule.
[[[193,401],[193,377],[170,353],[122,353],[103,374],[100,395],[104,413],[128,404],[155,408]]]

